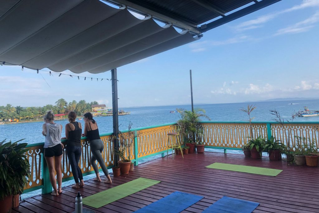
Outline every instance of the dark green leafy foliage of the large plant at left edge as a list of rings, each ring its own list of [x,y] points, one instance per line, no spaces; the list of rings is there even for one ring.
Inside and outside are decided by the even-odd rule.
[[[24,139],[22,139],[24,140]],[[0,199],[21,194],[30,174],[27,143],[0,142]]]

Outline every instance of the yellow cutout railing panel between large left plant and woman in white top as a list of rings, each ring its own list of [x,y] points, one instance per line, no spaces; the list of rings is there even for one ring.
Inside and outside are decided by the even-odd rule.
[[[28,147],[29,151],[26,152],[26,158],[30,163],[30,175],[27,178],[27,185],[24,190],[42,185],[42,170],[41,170],[41,155],[43,145]]]

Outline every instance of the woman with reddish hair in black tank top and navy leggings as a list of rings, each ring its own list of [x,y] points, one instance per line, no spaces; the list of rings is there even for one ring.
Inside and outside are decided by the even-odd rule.
[[[82,126],[80,123],[75,122],[77,118],[77,114],[74,111],[70,111],[68,115],[70,123],[65,125],[65,138],[68,139],[66,144],[66,154],[68,156],[71,170],[73,174],[73,178],[75,184],[73,184],[72,188],[79,188],[84,186],[83,175],[80,167],[78,166],[79,160],[82,153],[81,147],[81,134],[82,134]]]

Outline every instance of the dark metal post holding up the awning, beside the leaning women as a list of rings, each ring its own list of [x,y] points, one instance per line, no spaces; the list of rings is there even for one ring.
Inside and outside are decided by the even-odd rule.
[[[115,150],[119,150],[119,117],[118,117],[118,102],[117,102],[117,71],[116,68],[111,70],[112,73],[112,110],[113,110],[113,134],[116,139],[113,140],[113,147]],[[114,155],[114,165],[117,166],[120,157]]]

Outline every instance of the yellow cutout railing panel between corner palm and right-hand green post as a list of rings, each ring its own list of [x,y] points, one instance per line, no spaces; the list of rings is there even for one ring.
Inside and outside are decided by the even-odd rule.
[[[249,140],[250,125],[246,123],[202,123],[204,145],[212,147],[241,148]],[[251,125],[253,136],[267,138],[267,124]]]

